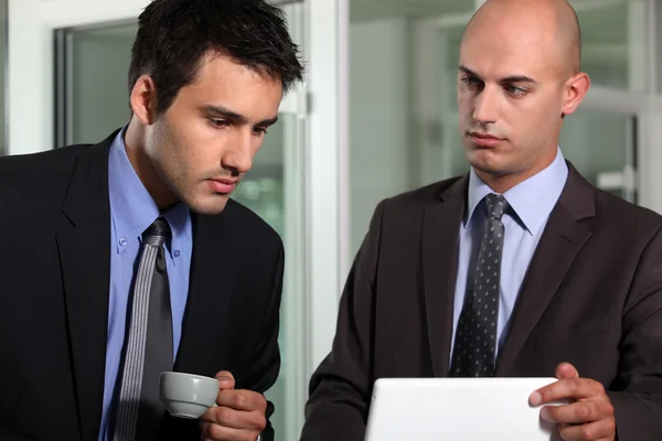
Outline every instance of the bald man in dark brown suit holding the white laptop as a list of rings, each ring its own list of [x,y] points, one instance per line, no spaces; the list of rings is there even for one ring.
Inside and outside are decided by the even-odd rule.
[[[564,440],[662,439],[662,217],[564,160],[579,62],[565,1],[473,17],[457,82],[471,171],[376,207],[301,440],[363,440],[377,378],[552,375],[530,401]]]

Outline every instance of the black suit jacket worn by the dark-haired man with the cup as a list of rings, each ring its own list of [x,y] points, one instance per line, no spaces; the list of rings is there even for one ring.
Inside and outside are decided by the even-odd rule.
[[[108,152],[73,146],[0,159],[0,440],[96,441],[110,280]],[[234,201],[192,215],[189,298],[175,370],[276,380],[284,249]],[[274,407],[269,404],[267,417]],[[263,434],[274,438],[269,427]],[[163,418],[159,439],[199,440]]]

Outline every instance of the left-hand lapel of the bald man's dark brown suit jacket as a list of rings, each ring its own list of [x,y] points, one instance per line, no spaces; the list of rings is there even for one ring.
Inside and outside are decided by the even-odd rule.
[[[456,182],[429,205],[423,219],[423,281],[435,376],[448,375],[458,272],[459,228],[469,179]]]

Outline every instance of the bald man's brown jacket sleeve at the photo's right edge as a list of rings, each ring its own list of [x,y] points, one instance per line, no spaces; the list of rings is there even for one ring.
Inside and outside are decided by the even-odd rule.
[[[622,320],[619,391],[609,391],[618,439],[662,439],[662,233],[643,251]]]

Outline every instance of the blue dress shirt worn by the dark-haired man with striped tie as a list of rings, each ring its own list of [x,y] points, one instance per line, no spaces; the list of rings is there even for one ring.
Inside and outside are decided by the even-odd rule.
[[[157,204],[127,157],[124,135],[115,138],[108,157],[108,192],[110,196],[110,303],[108,309],[108,341],[106,343],[106,377],[104,410],[99,441],[109,440],[113,409],[119,374],[127,302],[134,278],[134,268],[142,232],[162,215],[172,230],[172,240],[166,244],[170,305],[172,309],[173,354],[181,338],[182,319],[189,293],[189,271],[193,250],[193,233],[189,208],[178,204],[160,213]],[[174,363],[174,359],[173,359]]]

